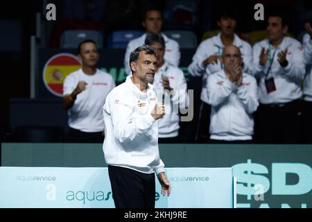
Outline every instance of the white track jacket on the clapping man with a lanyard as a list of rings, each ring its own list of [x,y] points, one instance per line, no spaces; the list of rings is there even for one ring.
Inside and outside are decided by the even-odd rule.
[[[269,59],[266,65],[259,63],[261,49],[269,50]],[[281,67],[278,62],[278,53],[288,48],[286,59],[287,67]],[[275,52],[276,51],[276,52]],[[254,69],[252,74],[259,80],[259,101],[263,104],[288,103],[302,96],[301,82],[304,78],[304,62],[302,61],[302,45],[291,37],[284,37],[283,42],[274,49],[269,41],[262,40],[254,44],[253,48]],[[270,67],[270,58],[273,61]],[[268,74],[268,75],[266,75]],[[267,92],[265,79],[274,78],[276,90]]]

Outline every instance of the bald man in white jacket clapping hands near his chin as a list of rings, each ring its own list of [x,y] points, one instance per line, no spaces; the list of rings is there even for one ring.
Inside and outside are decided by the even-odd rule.
[[[207,94],[211,104],[210,142],[249,143],[254,121],[252,113],[259,105],[257,81],[243,72],[241,51],[225,46],[224,70],[208,76]]]

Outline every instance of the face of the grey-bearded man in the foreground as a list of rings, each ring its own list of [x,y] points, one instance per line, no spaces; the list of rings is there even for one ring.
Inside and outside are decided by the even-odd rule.
[[[137,62],[131,62],[131,69],[133,75],[139,78],[141,82],[153,84],[156,64],[156,56],[148,55],[145,51],[141,51]]]

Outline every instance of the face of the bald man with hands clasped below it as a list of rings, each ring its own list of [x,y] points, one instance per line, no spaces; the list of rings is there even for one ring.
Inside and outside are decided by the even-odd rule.
[[[229,70],[234,67],[234,65],[241,65],[243,60],[239,49],[234,46],[227,46],[223,49],[222,61],[225,70]]]

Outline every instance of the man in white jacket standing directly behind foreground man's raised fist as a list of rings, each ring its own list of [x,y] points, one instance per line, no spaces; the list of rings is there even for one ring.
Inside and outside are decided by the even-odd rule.
[[[153,47],[157,53],[154,91],[158,101],[163,101],[166,115],[158,121],[158,142],[178,143],[179,140],[179,108],[187,108],[187,81],[181,69],[169,65],[164,59],[166,49],[164,37],[160,34],[146,36],[145,44]]]

